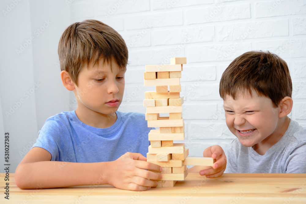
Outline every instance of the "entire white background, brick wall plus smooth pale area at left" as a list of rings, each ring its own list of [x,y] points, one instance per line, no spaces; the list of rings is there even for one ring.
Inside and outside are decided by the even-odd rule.
[[[190,156],[215,144],[226,151],[235,138],[225,124],[219,80],[250,50],[269,50],[288,63],[289,116],[306,127],[305,0],[4,0],[0,9],[0,164],[9,132],[11,173],[47,118],[76,108],[60,80],[57,48],[65,28],[85,19],[109,24],[129,47],[121,111],[145,113],[144,92],[155,87],[143,86],[144,65],[187,57],[181,96]]]

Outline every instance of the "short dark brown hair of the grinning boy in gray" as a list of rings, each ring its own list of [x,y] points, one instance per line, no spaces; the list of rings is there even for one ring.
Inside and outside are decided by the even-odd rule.
[[[230,63],[223,72],[219,93],[224,100],[255,90],[258,95],[270,98],[275,107],[286,96],[292,95],[292,82],[287,63],[269,51],[246,52]]]

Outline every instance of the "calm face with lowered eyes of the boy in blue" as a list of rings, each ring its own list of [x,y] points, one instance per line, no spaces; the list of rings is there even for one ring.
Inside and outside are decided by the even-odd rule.
[[[83,113],[109,115],[118,110],[123,98],[126,69],[120,71],[113,63],[112,70],[109,64],[99,63],[99,66],[85,67],[80,71],[74,94],[78,100],[78,109]]]

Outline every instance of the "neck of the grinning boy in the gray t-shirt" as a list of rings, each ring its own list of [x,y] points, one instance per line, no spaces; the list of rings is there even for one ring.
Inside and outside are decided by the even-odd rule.
[[[267,150],[270,149],[274,144],[276,144],[285,134],[288,129],[289,123],[290,118],[288,116],[280,118],[275,128],[275,132],[273,132],[273,134],[269,135],[260,143],[255,144],[253,146],[253,149],[260,155],[266,154]]]

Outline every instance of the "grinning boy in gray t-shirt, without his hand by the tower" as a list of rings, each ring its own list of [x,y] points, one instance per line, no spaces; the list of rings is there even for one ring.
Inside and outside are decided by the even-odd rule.
[[[287,116],[292,82],[286,62],[269,51],[237,57],[220,80],[230,144],[226,173],[306,173],[306,130]]]

